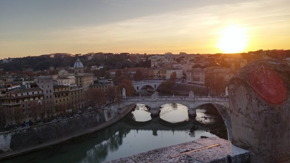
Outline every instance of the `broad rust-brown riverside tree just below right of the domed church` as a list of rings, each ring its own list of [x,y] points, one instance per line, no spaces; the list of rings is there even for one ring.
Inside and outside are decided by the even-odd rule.
[[[107,100],[105,98],[105,92],[99,90],[98,88],[92,88],[87,91],[87,102],[91,106],[97,105],[101,107],[103,104],[106,104]]]

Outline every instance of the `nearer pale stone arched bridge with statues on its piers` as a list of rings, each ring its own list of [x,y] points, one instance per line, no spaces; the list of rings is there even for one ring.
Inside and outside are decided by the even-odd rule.
[[[195,96],[192,91],[189,92],[189,96],[159,96],[158,92],[154,92],[152,96],[145,97],[126,97],[126,90],[123,88],[123,98],[121,107],[125,107],[130,104],[143,104],[151,108],[151,116],[157,116],[160,113],[161,105],[167,103],[178,103],[188,107],[188,116],[195,117],[195,108],[203,104],[216,104],[229,108],[229,101],[226,97],[217,96]]]

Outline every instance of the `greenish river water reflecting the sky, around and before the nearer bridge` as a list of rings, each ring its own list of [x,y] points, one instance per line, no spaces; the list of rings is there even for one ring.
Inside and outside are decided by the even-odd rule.
[[[164,104],[159,117],[150,116],[150,109],[137,104],[121,121],[79,140],[4,160],[5,163],[71,162],[98,163],[134,155],[151,149],[200,139],[211,134],[211,128],[223,126],[215,109],[206,104],[196,109],[196,117],[188,117],[188,108],[181,104]],[[205,118],[206,117],[206,118]],[[191,131],[195,125],[196,130]]]

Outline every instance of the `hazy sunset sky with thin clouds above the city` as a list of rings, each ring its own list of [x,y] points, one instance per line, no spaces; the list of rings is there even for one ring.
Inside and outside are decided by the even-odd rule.
[[[289,8],[289,0],[1,0],[0,59],[49,53],[223,53],[221,42],[236,41],[224,35],[235,32],[245,43],[237,52],[290,49]],[[228,27],[238,30],[229,33]]]

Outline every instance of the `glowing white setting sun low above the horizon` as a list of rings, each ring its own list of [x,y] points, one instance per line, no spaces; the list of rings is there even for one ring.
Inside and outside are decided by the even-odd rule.
[[[223,29],[220,34],[217,46],[222,53],[240,53],[246,50],[248,41],[245,29],[229,26]]]

